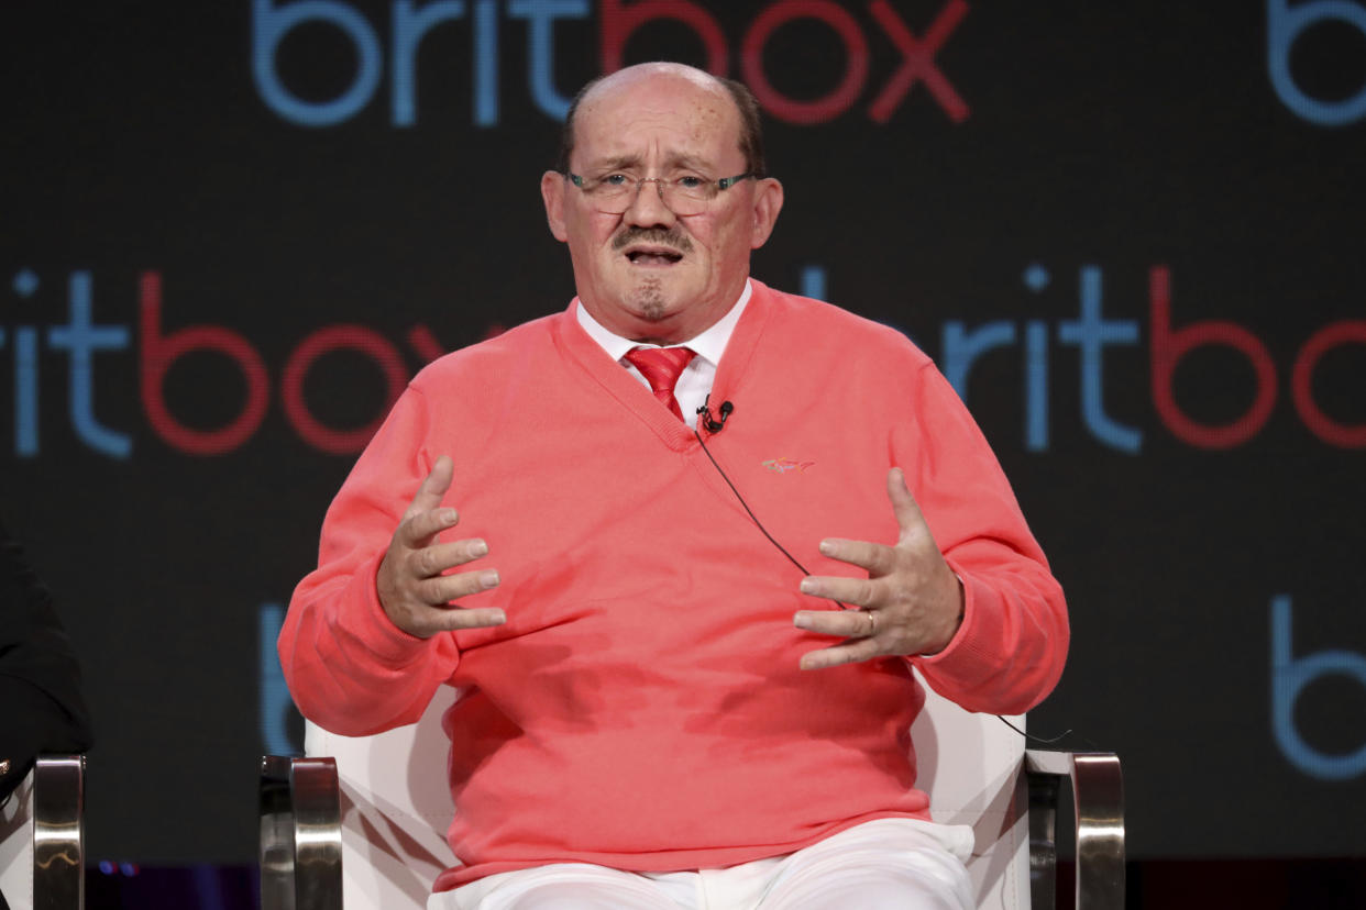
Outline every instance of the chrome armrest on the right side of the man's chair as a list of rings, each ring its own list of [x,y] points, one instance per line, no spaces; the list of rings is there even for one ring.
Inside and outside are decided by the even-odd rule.
[[[1029,780],[1030,898],[1053,907],[1057,798],[1072,786],[1076,824],[1076,910],[1124,906],[1124,778],[1113,752],[1024,750]]]

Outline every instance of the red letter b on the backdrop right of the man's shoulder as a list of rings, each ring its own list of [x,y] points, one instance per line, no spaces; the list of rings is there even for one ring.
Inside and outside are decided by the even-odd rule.
[[[1153,266],[1149,273],[1152,300],[1152,372],[1153,402],[1167,428],[1183,441],[1202,449],[1231,449],[1247,442],[1266,426],[1276,405],[1276,364],[1257,336],[1232,322],[1206,321],[1172,332],[1171,271]],[[1257,374],[1257,394],[1251,407],[1227,426],[1212,427],[1191,420],[1172,397],[1172,374],[1176,364],[1195,348],[1224,345],[1242,352]]]

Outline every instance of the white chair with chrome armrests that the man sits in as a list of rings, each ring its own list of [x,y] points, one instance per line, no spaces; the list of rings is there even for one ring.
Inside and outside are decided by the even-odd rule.
[[[307,726],[310,759],[262,760],[262,910],[422,910],[456,865],[445,843],[443,688],[422,719],[374,737]],[[1023,718],[1008,718],[1023,729]],[[970,824],[967,868],[985,910],[1055,906],[1055,816],[1061,779],[1076,806],[1076,907],[1124,906],[1123,784],[1113,753],[1024,749],[994,715],[970,714],[926,688],[911,727],[917,786],[936,821]],[[943,748],[941,748],[943,744]],[[1033,836],[1031,836],[1033,835]],[[339,903],[340,899],[340,903]]]

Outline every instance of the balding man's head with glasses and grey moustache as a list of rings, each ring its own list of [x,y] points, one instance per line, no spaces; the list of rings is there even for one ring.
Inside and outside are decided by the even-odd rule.
[[[541,177],[541,195],[550,232],[570,246],[579,300],[642,341],[686,341],[725,315],[783,207],[783,187],[764,176],[753,98],[680,64],[590,83],[566,123],[560,168]],[[594,194],[620,183],[638,191],[616,205]],[[684,184],[710,198],[683,199]]]

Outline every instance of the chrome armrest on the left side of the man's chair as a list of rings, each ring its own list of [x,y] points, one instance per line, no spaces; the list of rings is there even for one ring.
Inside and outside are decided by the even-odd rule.
[[[342,799],[332,759],[261,759],[261,910],[342,909]]]

